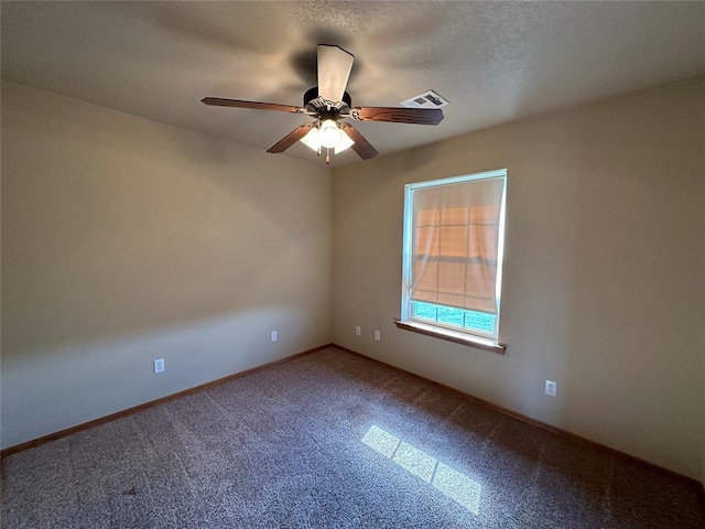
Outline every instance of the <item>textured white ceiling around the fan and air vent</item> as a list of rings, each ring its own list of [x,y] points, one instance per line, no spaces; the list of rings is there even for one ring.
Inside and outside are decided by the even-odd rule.
[[[356,123],[386,154],[705,72],[705,2],[11,2],[2,76],[265,150],[305,117],[316,45],[356,56],[354,106],[429,88],[437,127]],[[302,144],[284,154],[323,163]],[[358,161],[352,152],[333,164]]]

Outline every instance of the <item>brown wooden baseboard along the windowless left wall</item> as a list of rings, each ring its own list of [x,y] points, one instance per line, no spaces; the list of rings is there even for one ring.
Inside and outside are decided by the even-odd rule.
[[[231,380],[236,380],[238,378],[246,377],[247,375],[251,375],[257,371],[261,371],[262,369],[268,369],[270,367],[279,366],[281,364],[285,364],[295,358],[301,358],[302,356],[311,355],[313,353],[317,353],[318,350],[327,349],[328,347],[334,347],[334,344],[321,345],[318,347],[314,347],[313,349],[303,350],[301,353],[295,353],[291,356],[286,356],[284,358],[280,358],[279,360],[269,361],[267,364],[262,364],[261,366],[252,367],[250,369],[246,369],[245,371],[235,373],[232,375],[228,375],[227,377],[218,378],[216,380],[212,380],[210,382],[202,384],[199,386],[194,386],[193,388],[184,389],[183,391],[176,391],[175,393],[167,395],[165,397],[161,397],[156,400],[150,400],[149,402],[144,402],[142,404],[133,406],[132,408],[127,408],[121,411],[117,411],[115,413],[110,413],[109,415],[99,417],[98,419],[94,419],[88,422],[83,422],[80,424],[76,424],[75,427],[66,428],[64,430],[59,430],[54,433],[50,433],[47,435],[43,435],[37,439],[33,439],[30,441],[25,441],[24,443],[15,444],[13,446],[8,446],[0,451],[0,461],[4,460],[7,456],[17,454],[18,452],[23,452],[29,449],[33,449],[35,446],[40,446],[45,443],[50,443],[52,441],[56,441],[57,439],[65,438],[76,432],[82,432],[84,430],[88,430],[89,428],[97,427],[99,424],[105,424],[106,422],[111,422],[117,419],[121,419],[127,415],[131,415],[137,413],[138,411],[145,410],[148,408],[153,408],[155,406],[163,404],[165,402],[170,402],[172,400],[178,399],[180,397],[185,397],[186,395],[195,393],[198,391],[203,391],[204,389],[209,389],[215,386],[219,386],[225,382],[229,382]]]

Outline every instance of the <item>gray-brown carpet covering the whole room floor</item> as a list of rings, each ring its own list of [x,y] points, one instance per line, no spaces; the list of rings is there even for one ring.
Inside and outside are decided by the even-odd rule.
[[[697,528],[696,494],[335,348],[11,455],[3,528]]]

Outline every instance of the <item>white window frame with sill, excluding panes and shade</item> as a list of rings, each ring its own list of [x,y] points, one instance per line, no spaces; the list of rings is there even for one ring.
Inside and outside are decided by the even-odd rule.
[[[413,194],[416,190],[426,187],[435,187],[441,185],[457,184],[476,180],[503,177],[501,210],[499,218],[499,235],[497,248],[497,280],[495,287],[495,295],[497,299],[497,316],[495,333],[487,333],[480,330],[460,327],[457,325],[444,324],[443,322],[430,322],[429,320],[417,319],[411,314],[411,278],[413,263]],[[452,176],[426,182],[416,182],[404,186],[404,226],[403,226],[403,260],[402,260],[402,300],[401,300],[401,319],[397,321],[400,328],[415,331],[422,334],[436,336],[452,342],[465,345],[476,346],[503,354],[505,344],[499,343],[499,327],[501,313],[501,284],[502,284],[502,264],[505,257],[505,217],[506,217],[506,198],[507,198],[507,170],[499,169],[495,171],[486,171],[482,173],[466,174],[460,176]]]

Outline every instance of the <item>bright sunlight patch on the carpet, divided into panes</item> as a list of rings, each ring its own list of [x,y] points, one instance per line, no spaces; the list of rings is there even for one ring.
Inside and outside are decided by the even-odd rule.
[[[465,474],[376,425],[367,431],[361,442],[432,485],[474,515],[479,512],[482,487]]]

